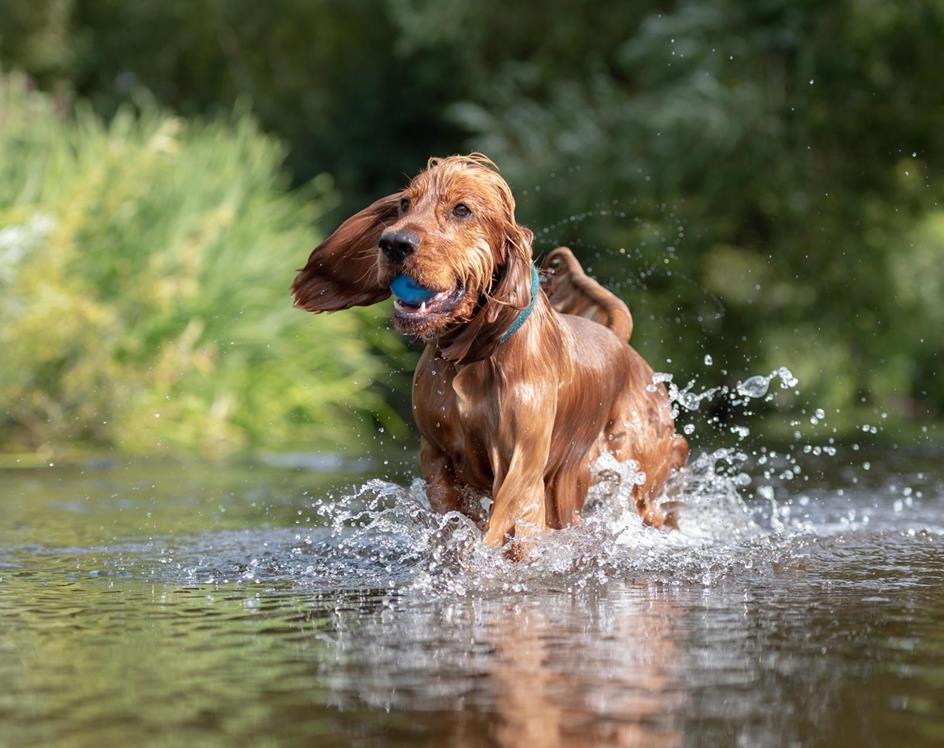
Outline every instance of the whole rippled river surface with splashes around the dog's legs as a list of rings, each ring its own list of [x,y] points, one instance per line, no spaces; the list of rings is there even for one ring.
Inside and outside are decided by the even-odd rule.
[[[409,461],[0,471],[0,744],[940,745],[944,452],[794,451],[523,564]]]

